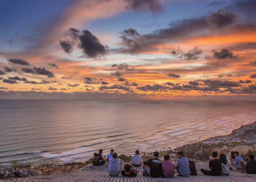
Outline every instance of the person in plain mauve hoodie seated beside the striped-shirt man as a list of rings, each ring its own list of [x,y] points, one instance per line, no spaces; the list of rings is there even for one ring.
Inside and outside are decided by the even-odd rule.
[[[165,178],[173,178],[175,174],[175,164],[170,161],[170,155],[166,154],[164,156],[164,161],[162,163],[162,174]]]

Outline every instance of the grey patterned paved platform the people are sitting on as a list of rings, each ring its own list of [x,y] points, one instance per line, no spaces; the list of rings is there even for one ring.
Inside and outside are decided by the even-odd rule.
[[[124,167],[124,163],[122,164],[122,169]],[[199,162],[196,163],[196,176],[189,177],[178,177],[175,174],[174,178],[152,178],[146,177],[142,175],[142,167],[135,167],[135,169],[139,170],[139,174],[137,177],[123,177],[121,174],[118,177],[111,177],[108,174],[108,165],[102,166],[93,166],[87,165],[77,171],[72,173],[58,173],[58,174],[50,174],[50,175],[41,175],[36,177],[29,178],[13,178],[4,180],[5,182],[164,182],[164,181],[177,181],[177,182],[223,182],[223,181],[232,181],[232,182],[255,182],[256,174],[246,174],[241,173],[238,170],[231,170],[230,175],[228,176],[206,176],[201,173],[200,169],[205,168],[208,169],[207,162]],[[1,180],[1,179],[0,179]],[[3,179],[2,179],[3,180]]]

